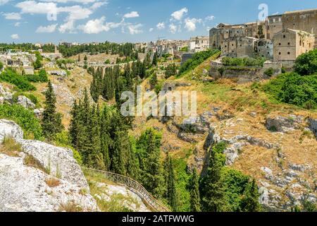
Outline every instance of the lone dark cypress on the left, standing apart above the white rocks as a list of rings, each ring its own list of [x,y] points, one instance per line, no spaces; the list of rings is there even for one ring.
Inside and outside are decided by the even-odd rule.
[[[44,136],[51,140],[56,133],[61,133],[63,125],[61,124],[61,114],[56,112],[56,96],[54,94],[51,81],[45,91],[45,107],[42,117],[42,129]]]

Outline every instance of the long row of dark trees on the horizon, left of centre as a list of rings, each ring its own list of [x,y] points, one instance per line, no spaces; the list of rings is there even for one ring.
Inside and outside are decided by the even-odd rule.
[[[119,54],[120,57],[130,57],[131,59],[137,59],[135,44],[132,43],[117,44],[104,42],[99,44],[73,45],[71,47],[61,44],[58,46],[58,50],[61,52],[61,54],[63,54],[63,57],[72,57],[86,52],[90,54]]]

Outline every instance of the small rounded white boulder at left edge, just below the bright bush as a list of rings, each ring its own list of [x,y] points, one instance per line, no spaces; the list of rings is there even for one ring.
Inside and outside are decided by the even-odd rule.
[[[6,119],[0,120],[0,143],[4,141],[5,137],[14,138],[15,141],[20,141],[23,139],[23,131],[15,124],[14,121],[9,121]]]

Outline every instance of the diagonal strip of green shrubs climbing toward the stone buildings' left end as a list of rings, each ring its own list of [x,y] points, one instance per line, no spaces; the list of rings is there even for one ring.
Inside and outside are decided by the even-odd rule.
[[[186,73],[187,71],[195,69],[199,64],[204,62],[206,59],[209,59],[209,57],[213,56],[214,54],[217,54],[219,52],[218,49],[209,49],[207,51],[203,52],[197,52],[194,54],[192,59],[187,60],[182,66],[180,66],[180,72],[179,75]]]

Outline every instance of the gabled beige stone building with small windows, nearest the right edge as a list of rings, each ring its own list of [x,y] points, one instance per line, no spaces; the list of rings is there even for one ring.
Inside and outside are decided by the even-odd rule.
[[[299,55],[309,52],[314,45],[315,35],[284,28],[273,36],[273,59],[285,66],[292,66]]]

